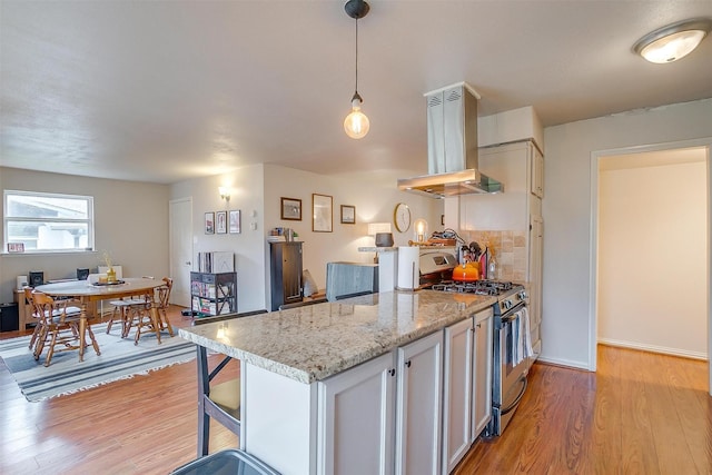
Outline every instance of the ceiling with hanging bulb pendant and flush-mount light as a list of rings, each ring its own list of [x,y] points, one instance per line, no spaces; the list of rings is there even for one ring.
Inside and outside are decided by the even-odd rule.
[[[250,164],[426,171],[427,91],[459,81],[479,116],[544,126],[712,97],[712,39],[652,65],[647,32],[704,1],[0,1],[0,165],[171,184]]]

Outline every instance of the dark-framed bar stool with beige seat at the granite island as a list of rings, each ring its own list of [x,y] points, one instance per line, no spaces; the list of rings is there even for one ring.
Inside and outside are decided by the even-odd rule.
[[[241,314],[219,315],[217,317],[196,318],[194,325],[230,320],[266,314],[267,310],[246,311]],[[222,360],[210,368],[208,352],[205,346],[196,345],[198,363],[198,457],[208,455],[210,442],[210,418],[216,419],[231,433],[240,435],[240,379],[229,379],[211,384],[212,379],[233,359],[222,355]]]

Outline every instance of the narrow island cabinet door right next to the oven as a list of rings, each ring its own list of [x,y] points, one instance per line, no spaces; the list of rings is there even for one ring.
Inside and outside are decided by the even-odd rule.
[[[492,309],[475,315],[472,442],[479,436],[492,418]]]

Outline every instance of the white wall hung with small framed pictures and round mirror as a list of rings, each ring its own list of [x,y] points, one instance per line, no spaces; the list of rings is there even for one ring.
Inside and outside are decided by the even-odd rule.
[[[363,175],[325,176],[274,165],[240,168],[219,176],[196,178],[170,188],[170,198],[192,197],[194,254],[206,250],[233,250],[237,256],[238,310],[270,308],[269,261],[266,236],[274,227],[293,228],[304,241],[304,268],[319,288],[326,286],[326,264],[329,261],[372,263],[373,254],[359,253],[358,247],[373,246],[366,236],[368,222],[393,224],[393,211],[399,201],[409,205],[413,220],[424,217],[431,231],[442,228],[442,201],[398,191],[397,178],[412,171],[378,171]],[[229,186],[229,206],[220,199],[219,186]],[[333,231],[312,231],[312,195],[333,197]],[[301,200],[301,220],[280,219],[280,198]],[[340,205],[356,207],[356,224],[340,224]],[[240,209],[243,232],[239,235],[205,235],[202,219],[206,211]],[[255,217],[251,217],[253,210]],[[249,224],[257,225],[250,230]],[[434,226],[437,225],[437,226]],[[394,231],[396,245],[407,245],[411,232]]]

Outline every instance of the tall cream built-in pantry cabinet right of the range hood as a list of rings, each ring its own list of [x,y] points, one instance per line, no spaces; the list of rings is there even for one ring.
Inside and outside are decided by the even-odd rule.
[[[542,245],[544,220],[544,157],[533,140],[483,147],[479,149],[479,170],[504,184],[504,192],[462,197],[461,222],[474,231],[513,230],[524,232],[522,255],[515,249],[510,263],[527,285],[532,346],[541,353],[542,321]],[[503,263],[498,261],[501,266]],[[515,278],[515,280],[520,280]]]

